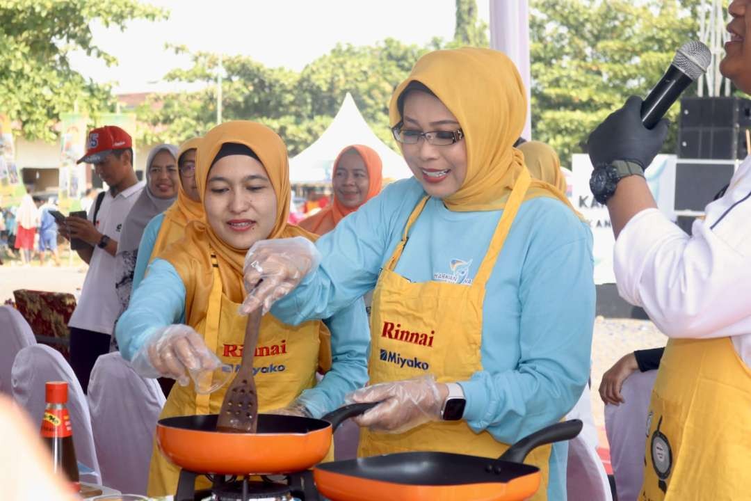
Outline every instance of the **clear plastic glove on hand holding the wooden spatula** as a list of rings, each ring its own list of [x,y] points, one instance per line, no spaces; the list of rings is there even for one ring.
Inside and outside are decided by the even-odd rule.
[[[259,307],[264,315],[274,301],[289,294],[321,263],[321,253],[304,237],[261,240],[245,256],[245,289],[248,291],[240,314]]]

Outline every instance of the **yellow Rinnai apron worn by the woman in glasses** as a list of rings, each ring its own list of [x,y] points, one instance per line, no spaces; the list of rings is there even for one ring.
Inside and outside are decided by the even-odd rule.
[[[501,253],[511,223],[523,201],[530,177],[526,169],[490,240],[482,264],[471,285],[443,282],[410,282],[394,273],[408,240],[409,228],[425,207],[424,198],[409,216],[401,243],[383,268],[375,285],[371,310],[369,384],[410,379],[427,374],[439,382],[466,381],[482,370],[482,303],[485,284]],[[406,433],[373,433],[360,430],[359,456],[400,451],[445,451],[499,457],[508,444],[487,431],[475,433],[465,421],[438,421]],[[527,463],[538,466],[542,481],[537,496],[547,498],[550,445],[537,448]]]

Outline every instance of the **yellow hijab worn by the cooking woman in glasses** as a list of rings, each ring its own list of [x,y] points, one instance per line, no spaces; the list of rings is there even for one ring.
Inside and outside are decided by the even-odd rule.
[[[524,168],[522,153],[513,147],[526,119],[526,92],[511,59],[496,50],[464,47],[436,50],[422,56],[412,73],[391,97],[391,125],[402,120],[398,100],[416,80],[427,86],[457,117],[467,149],[464,183],[443,199],[450,210],[500,210]],[[532,180],[525,200],[565,195],[542,181]]]

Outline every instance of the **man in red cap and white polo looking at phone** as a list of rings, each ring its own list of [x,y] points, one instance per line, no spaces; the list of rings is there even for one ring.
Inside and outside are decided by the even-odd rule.
[[[110,337],[119,302],[115,292],[115,254],[125,216],[138,199],[144,184],[133,170],[130,135],[122,128],[107,125],[89,132],[86,155],[78,163],[93,164],[95,172],[110,186],[101,204],[89,209],[89,218],[65,219],[67,237],[88,243],[78,255],[89,263],[78,301],[68,327],[71,330],[71,367],[83,391],[99,355],[110,348]]]

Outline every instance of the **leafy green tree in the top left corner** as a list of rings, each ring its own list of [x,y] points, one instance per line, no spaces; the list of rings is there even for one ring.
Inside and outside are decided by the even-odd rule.
[[[82,50],[113,64],[93,41],[91,23],[125,29],[129,20],[164,17],[134,0],[2,0],[0,2],[0,112],[21,123],[28,139],[55,140],[59,114],[74,103],[96,113],[112,104],[110,89],[71,68]]]

